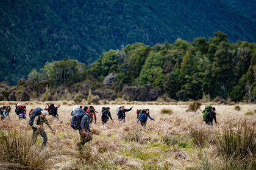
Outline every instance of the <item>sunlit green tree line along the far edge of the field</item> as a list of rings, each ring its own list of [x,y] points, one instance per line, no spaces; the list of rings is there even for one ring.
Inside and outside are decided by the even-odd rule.
[[[129,44],[102,53],[87,67],[77,60],[46,63],[28,79],[10,87],[1,83],[1,100],[171,101],[213,100],[254,102],[256,44],[230,43],[227,35],[177,39],[173,44]]]

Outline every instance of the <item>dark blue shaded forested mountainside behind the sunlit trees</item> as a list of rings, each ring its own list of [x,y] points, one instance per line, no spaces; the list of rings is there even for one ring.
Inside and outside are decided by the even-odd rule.
[[[256,39],[256,21],[220,0],[2,0],[0,11],[0,81],[11,84],[46,61],[66,58],[88,66],[102,52],[135,42],[192,42],[218,30],[230,42]],[[139,80],[148,82],[142,75]]]

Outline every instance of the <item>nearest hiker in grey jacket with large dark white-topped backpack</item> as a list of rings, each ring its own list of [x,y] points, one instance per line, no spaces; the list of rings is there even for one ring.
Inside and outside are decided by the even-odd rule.
[[[80,142],[77,143],[77,146],[81,149],[85,143],[93,139],[90,130],[91,118],[87,112],[83,109],[79,109],[78,105],[73,107],[73,112],[74,116],[71,120],[71,127],[79,130]]]

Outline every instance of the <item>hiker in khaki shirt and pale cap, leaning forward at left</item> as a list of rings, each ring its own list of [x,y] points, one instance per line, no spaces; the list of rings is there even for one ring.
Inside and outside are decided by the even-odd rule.
[[[52,129],[51,124],[48,121],[48,118],[46,118],[47,115],[47,111],[46,110],[41,110],[41,114],[36,116],[34,119],[34,123],[32,125],[32,129],[33,129],[33,135],[32,135],[32,139],[35,141],[37,141],[37,137],[38,135],[40,135],[41,137],[43,137],[43,143],[41,145],[41,147],[46,145],[46,142],[48,141],[46,132],[43,129],[43,124],[46,123],[47,126],[51,129],[52,134],[55,135],[55,131],[54,129]]]

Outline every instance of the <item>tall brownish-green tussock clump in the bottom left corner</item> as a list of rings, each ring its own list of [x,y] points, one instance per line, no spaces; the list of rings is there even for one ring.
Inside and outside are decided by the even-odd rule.
[[[8,131],[0,134],[1,167],[6,169],[48,169],[59,153],[40,148],[27,133]]]

